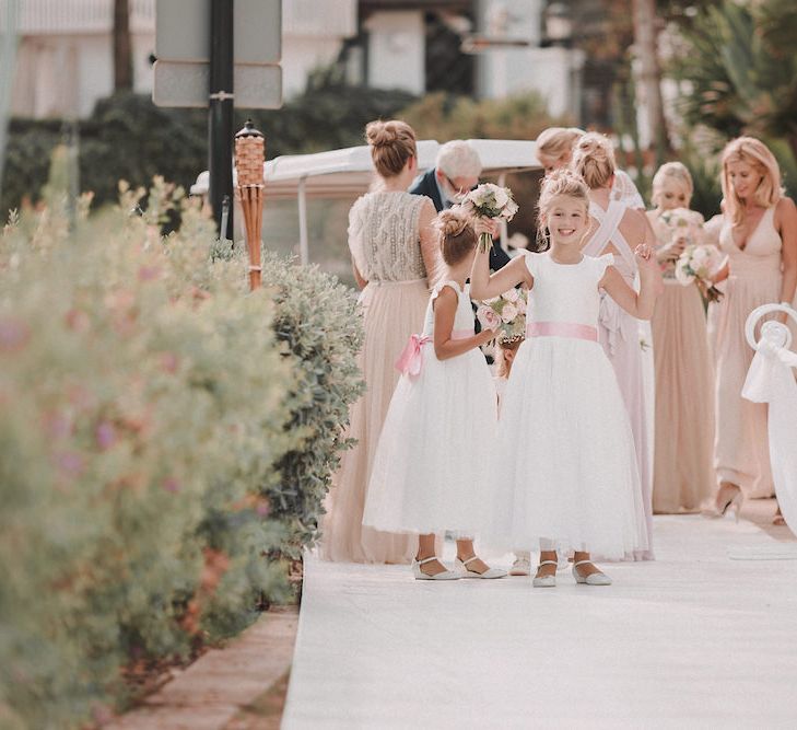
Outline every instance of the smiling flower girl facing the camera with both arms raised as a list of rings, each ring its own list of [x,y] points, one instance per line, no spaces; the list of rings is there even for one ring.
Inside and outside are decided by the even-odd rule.
[[[492,276],[487,256],[478,253],[471,276],[477,299],[519,282],[529,288],[526,339],[501,409],[488,537],[508,548],[540,541],[534,581],[539,587],[555,586],[558,548],[574,551],[578,583],[608,586],[611,580],[593,565],[588,551],[622,558],[646,547],[629,416],[596,325],[599,288],[635,317],[649,318],[659,277],[647,246],[635,252],[638,294],[611,265],[611,254],[581,253],[588,205],[578,175],[554,172],[543,182],[539,202],[550,250],[518,257]]]

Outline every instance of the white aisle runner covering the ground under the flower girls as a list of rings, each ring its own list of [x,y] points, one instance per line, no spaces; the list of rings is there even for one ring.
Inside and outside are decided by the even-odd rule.
[[[729,557],[795,544],[698,515],[655,537],[608,588],[308,556],[282,727],[797,727],[797,559]]]

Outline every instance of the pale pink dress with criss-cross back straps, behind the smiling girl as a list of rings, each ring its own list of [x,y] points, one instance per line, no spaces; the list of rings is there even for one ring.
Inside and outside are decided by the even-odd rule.
[[[619,255],[614,256],[614,268],[631,287],[636,277],[636,260],[633,251],[620,232],[620,221],[628,209],[621,200],[611,200],[603,210],[595,202],[589,204],[589,215],[599,228],[583,248],[587,256],[599,257],[612,244]],[[635,287],[634,287],[635,288]],[[603,346],[620,385],[631,430],[636,448],[636,463],[644,508],[644,533],[647,549],[637,551],[626,557],[635,560],[652,560],[653,555],[653,477],[648,451],[647,417],[645,412],[645,385],[642,371],[642,348],[640,346],[640,321],[622,310],[605,291],[600,292],[598,337]]]

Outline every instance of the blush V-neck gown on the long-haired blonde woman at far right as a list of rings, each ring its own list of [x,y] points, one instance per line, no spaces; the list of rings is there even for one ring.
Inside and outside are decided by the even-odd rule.
[[[725,297],[716,316],[716,422],[714,465],[719,482],[737,484],[747,497],[772,497],[766,404],[741,397],[753,350],[745,339],[745,323],[757,306],[777,302],[781,296],[783,242],[769,208],[745,248],[734,241],[726,217],[719,247],[730,269]]]

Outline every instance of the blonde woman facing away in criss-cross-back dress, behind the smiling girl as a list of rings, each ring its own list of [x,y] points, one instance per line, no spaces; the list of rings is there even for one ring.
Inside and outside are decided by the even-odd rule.
[[[634,286],[637,265],[634,250],[645,243],[648,223],[638,210],[630,208],[612,195],[616,178],[614,153],[611,142],[596,132],[584,135],[576,143],[572,166],[589,188],[589,216],[591,224],[585,236],[583,253],[587,256],[614,255],[614,267],[626,283]],[[660,275],[658,290],[663,289]],[[652,470],[648,449],[648,425],[645,410],[645,384],[643,378],[640,323],[606,292],[601,292],[598,325],[600,344],[617,374],[625,408],[634,434],[636,462],[641,477],[647,549],[626,557],[640,560],[653,559],[653,506]]]

